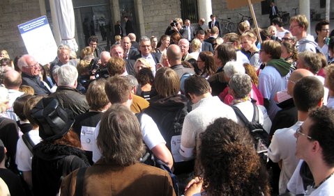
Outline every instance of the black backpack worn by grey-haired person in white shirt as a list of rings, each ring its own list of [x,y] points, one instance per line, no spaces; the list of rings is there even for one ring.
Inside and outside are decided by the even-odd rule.
[[[254,139],[257,153],[266,161],[269,147],[269,134],[264,130],[264,127],[259,124],[259,108],[257,108],[257,105],[254,102],[252,102],[252,104],[254,108],[252,122],[247,120],[239,108],[236,106],[232,106],[232,108],[243,124],[250,130],[250,135]]]

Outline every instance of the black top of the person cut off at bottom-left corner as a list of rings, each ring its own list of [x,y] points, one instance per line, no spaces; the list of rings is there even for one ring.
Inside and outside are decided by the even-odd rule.
[[[20,177],[14,174],[12,171],[0,168],[0,178],[3,179],[3,181],[5,181],[7,184],[11,196],[26,195],[24,193]]]

